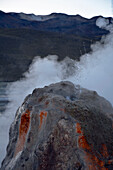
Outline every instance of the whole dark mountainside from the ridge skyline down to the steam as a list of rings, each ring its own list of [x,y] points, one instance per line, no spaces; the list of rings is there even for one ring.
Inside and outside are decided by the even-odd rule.
[[[96,26],[98,17],[52,13],[36,16],[0,11],[0,81],[15,81],[35,56],[58,55],[80,60],[109,31]],[[111,18],[108,18],[109,22]]]

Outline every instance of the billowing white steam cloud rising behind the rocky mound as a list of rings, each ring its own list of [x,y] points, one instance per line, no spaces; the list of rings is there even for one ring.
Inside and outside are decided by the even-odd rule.
[[[109,30],[110,34],[104,36],[101,42],[92,45],[92,52],[82,56],[80,62],[68,57],[60,63],[57,62],[56,56],[48,56],[44,59],[36,57],[29,71],[24,74],[25,78],[8,87],[8,97],[11,102],[4,116],[0,117],[0,136],[2,137],[0,161],[5,156],[8,128],[14,119],[15,112],[34,88],[69,80],[74,84],[97,91],[113,105],[113,24],[109,24],[109,20],[99,18],[97,25]]]

